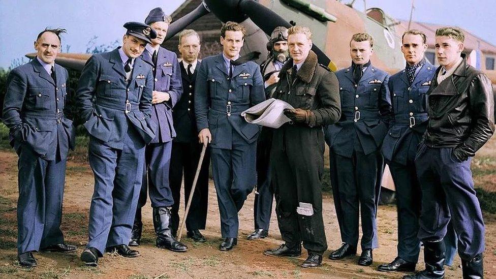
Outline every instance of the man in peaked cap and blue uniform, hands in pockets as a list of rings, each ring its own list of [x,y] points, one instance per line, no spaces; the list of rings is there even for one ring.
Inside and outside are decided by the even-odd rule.
[[[150,26],[124,24],[122,47],[94,54],[84,66],[76,100],[90,135],[88,160],[95,175],[88,244],[81,254],[96,266],[105,252],[136,257],[129,249],[143,174],[145,144],[155,137],[151,117],[153,76],[139,56],[157,37]]]

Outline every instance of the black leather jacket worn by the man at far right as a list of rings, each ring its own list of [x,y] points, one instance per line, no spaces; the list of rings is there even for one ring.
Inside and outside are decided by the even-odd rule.
[[[494,133],[494,99],[487,76],[463,61],[441,84],[436,71],[429,90],[429,123],[424,141],[430,147],[454,147],[460,161],[474,156]]]

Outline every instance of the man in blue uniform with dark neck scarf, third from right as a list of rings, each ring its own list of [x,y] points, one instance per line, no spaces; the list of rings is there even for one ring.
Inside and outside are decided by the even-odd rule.
[[[372,250],[378,247],[378,181],[384,162],[380,148],[391,113],[389,75],[370,64],[372,53],[369,34],[353,35],[352,66],[336,73],[343,113],[326,131],[334,206],[344,242],[329,258],[339,260],[356,254],[360,215],[363,235],[358,264],[365,266],[372,263]]]

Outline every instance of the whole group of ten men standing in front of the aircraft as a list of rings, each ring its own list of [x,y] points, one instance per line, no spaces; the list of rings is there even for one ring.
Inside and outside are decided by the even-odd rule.
[[[445,241],[451,220],[463,276],[482,278],[484,223],[470,171],[471,158],[494,132],[490,80],[467,64],[464,35],[453,27],[436,32],[440,67],[424,57],[425,34],[402,37],[405,70],[392,75],[370,63],[374,40],[357,33],[350,40],[351,67],[334,74],[311,50],[312,32],[277,27],[262,67],[240,57],[245,29],[221,28],[221,54],[198,59],[194,30],[179,35],[178,62],[163,43],[170,17],[150,11],[145,23],[128,22],[122,47],[92,55],[76,91],[90,135],[89,163],[95,175],[88,243],[81,254],[96,266],[105,252],[136,257],[149,192],[156,245],[174,252],[180,188],[189,197],[202,148],[187,235],[204,242],[208,168],[221,216],[221,251],[237,244],[238,212],[256,186],[255,231],[268,235],[275,196],[284,243],[265,255],[308,256],[317,267],[327,250],[322,218],[324,144],[330,147],[334,205],[343,244],[330,253],[340,260],[357,252],[358,264],[373,261],[378,247],[377,206],[384,164],[396,186],[398,254],[381,271],[415,271],[424,245],[425,269],[406,278],[443,278]],[[14,69],[8,81],[4,122],[19,155],[18,260],[36,266],[33,251],[69,253],[60,231],[72,121],[64,115],[67,71],[56,65],[60,34],[40,33],[37,57]],[[291,120],[281,128],[251,124],[240,113],[266,99],[289,103]],[[198,143],[199,142],[199,143]],[[208,147],[207,147],[208,146]],[[187,200],[187,199],[185,199]],[[34,222],[33,222],[34,218]]]

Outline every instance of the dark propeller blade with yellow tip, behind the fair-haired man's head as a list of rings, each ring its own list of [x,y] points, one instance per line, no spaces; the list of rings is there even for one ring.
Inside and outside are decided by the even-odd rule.
[[[238,7],[269,36],[272,33],[272,30],[277,26],[284,26],[287,28],[292,26],[281,16],[253,0],[241,0]],[[315,44],[312,47],[312,50],[317,54],[320,64],[325,66],[331,65],[331,59],[329,59],[329,57],[327,57],[327,55]]]

